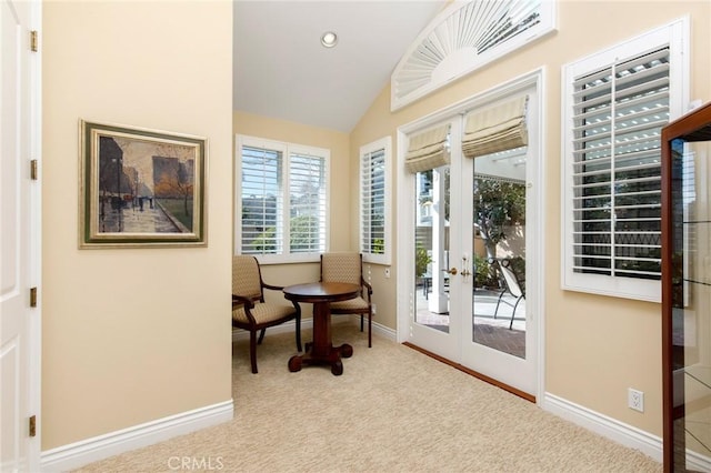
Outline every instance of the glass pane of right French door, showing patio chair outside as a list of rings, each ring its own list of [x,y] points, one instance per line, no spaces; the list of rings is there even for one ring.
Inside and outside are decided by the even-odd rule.
[[[473,342],[525,358],[527,148],[474,159]]]

